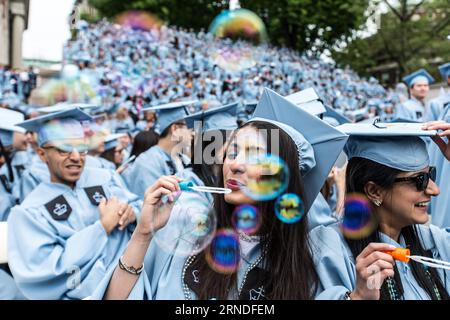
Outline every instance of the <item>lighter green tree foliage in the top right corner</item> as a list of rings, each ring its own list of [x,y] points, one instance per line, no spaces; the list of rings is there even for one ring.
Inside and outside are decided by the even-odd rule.
[[[333,58],[360,74],[395,63],[399,77],[422,67],[439,77],[436,65],[450,61],[450,0],[377,1],[388,8],[378,32],[335,50]]]

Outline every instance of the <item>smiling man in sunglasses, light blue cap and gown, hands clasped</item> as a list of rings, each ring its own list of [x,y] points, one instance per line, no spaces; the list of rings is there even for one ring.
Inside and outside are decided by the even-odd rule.
[[[72,109],[19,124],[38,133],[50,172],[8,219],[9,264],[26,298],[86,298],[130,239],[141,203],[110,170],[85,167],[90,119]]]

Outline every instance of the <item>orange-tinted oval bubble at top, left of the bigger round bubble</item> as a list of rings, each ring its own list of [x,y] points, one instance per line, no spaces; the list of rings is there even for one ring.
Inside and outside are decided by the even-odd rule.
[[[157,16],[140,10],[123,12],[117,15],[115,22],[122,27],[129,27],[133,30],[142,31],[159,29],[163,25],[162,21]]]

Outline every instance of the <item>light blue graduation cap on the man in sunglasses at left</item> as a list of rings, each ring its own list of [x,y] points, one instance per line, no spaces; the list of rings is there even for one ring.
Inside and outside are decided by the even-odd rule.
[[[38,145],[49,141],[85,138],[81,121],[92,121],[92,117],[79,108],[45,114],[22,123],[18,126],[27,131],[37,132]]]

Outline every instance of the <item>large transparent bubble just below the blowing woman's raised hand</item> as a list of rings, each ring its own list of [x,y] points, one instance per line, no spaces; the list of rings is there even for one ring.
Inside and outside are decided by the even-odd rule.
[[[189,193],[182,202],[175,202],[173,208],[167,203],[159,205],[155,219],[164,215],[170,215],[169,221],[152,234],[156,245],[165,252],[187,257],[201,252],[214,238],[216,212],[206,198],[196,193]]]

